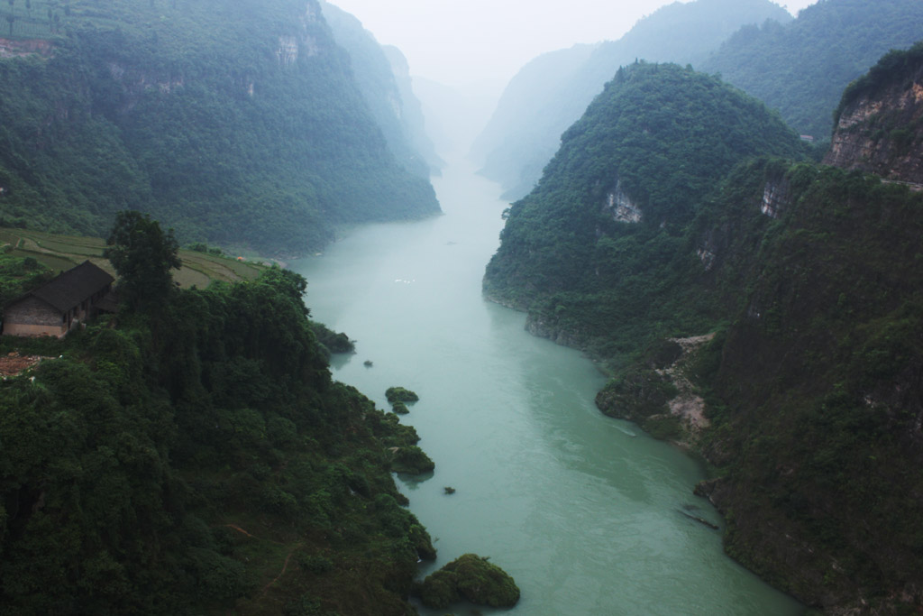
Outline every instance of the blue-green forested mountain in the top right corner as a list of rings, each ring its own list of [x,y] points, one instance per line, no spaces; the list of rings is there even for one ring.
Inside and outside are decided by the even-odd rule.
[[[917,0],[824,0],[785,24],[748,26],[701,69],[778,109],[789,126],[830,136],[844,88],[881,55],[923,39]]]

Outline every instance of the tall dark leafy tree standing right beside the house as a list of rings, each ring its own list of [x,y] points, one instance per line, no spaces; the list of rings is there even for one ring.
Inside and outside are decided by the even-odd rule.
[[[162,304],[173,289],[171,270],[183,262],[173,229],[163,233],[160,223],[139,211],[119,211],[102,256],[119,276],[123,303],[149,310]]]

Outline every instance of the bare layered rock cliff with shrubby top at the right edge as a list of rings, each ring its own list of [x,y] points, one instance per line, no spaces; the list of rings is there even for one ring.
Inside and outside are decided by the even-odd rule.
[[[923,184],[923,62],[914,65],[845,98],[824,163]]]

